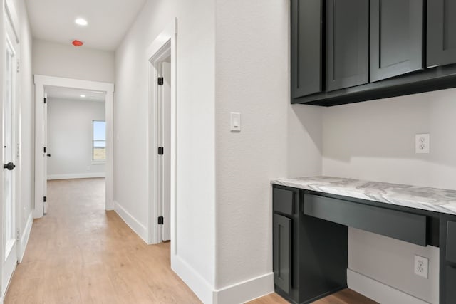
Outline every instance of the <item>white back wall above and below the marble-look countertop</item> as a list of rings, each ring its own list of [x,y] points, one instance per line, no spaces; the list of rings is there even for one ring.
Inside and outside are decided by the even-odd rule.
[[[323,174],[456,189],[455,99],[456,89],[450,89],[326,108]],[[430,133],[430,154],[415,154],[418,133]],[[430,279],[423,281],[413,275],[416,246],[388,238],[382,243],[394,263],[377,263],[385,260],[383,251],[370,249],[378,248],[377,237],[351,231],[350,268],[436,303],[437,248],[420,248],[431,258]]]

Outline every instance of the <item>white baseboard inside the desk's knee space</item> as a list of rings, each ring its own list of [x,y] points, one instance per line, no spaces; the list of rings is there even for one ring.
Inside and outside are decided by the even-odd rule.
[[[404,293],[350,269],[347,269],[347,283],[348,288],[351,290],[355,290],[361,295],[366,295],[366,297],[378,303],[428,304],[413,295]]]

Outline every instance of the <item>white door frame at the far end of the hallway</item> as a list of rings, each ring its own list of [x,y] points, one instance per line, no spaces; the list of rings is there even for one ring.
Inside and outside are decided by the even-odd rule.
[[[43,183],[44,176],[44,87],[46,85],[73,88],[82,90],[96,90],[105,92],[105,120],[106,120],[106,196],[105,209],[113,210],[113,101],[114,84],[98,81],[61,78],[45,75],[34,75],[35,81],[35,210],[33,217],[38,219],[43,216]]]

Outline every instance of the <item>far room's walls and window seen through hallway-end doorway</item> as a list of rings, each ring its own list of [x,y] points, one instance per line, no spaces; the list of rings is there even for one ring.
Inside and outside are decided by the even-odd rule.
[[[48,195],[49,181],[93,178],[104,181],[107,151],[105,92],[45,86],[45,96],[44,213],[47,214],[48,204],[53,201]]]

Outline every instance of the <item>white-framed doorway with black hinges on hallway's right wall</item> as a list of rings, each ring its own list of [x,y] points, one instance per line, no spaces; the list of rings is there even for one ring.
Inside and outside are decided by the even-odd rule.
[[[152,42],[149,68],[149,239],[171,241],[176,254],[176,36],[177,19]]]

